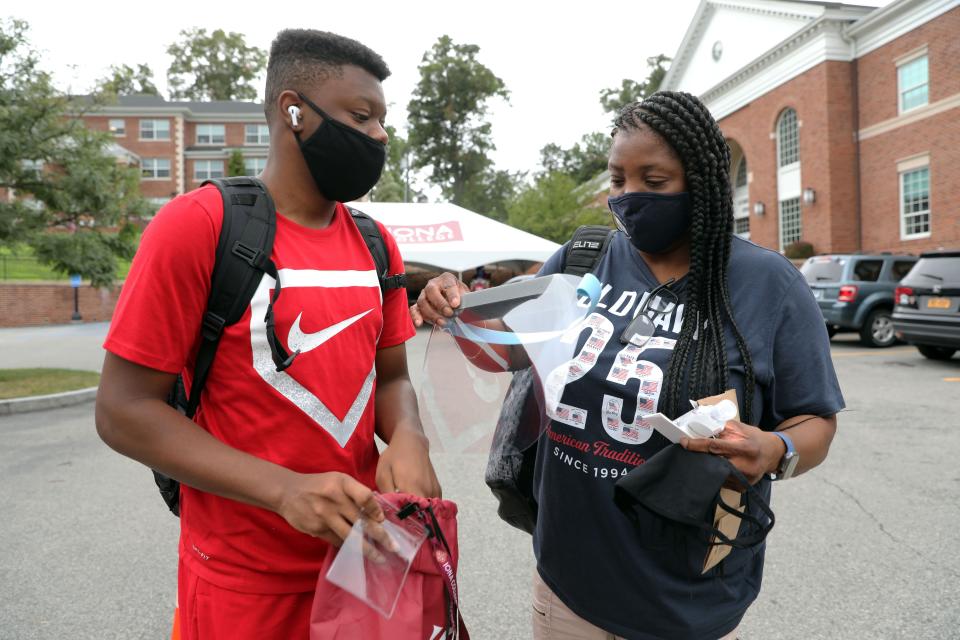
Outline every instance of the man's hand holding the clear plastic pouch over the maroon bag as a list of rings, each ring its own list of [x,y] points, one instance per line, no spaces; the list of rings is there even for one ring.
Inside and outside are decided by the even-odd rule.
[[[290,526],[339,547],[361,513],[383,522],[373,491],[345,473],[297,473],[291,476],[276,512]]]

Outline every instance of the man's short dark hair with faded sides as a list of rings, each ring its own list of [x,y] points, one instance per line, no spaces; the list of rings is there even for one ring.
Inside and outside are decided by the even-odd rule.
[[[270,45],[267,64],[267,119],[273,115],[281,92],[303,91],[331,74],[341,74],[341,68],[347,64],[366,70],[380,82],[390,75],[383,58],[356,40],[315,29],[284,29],[278,33]]]

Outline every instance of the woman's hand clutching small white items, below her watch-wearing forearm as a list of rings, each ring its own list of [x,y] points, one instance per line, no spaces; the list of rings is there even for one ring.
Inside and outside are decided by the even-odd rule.
[[[680,446],[689,451],[712,453],[723,456],[756,484],[764,474],[771,473],[780,465],[786,453],[783,440],[768,431],[748,424],[730,420],[716,438],[681,438]],[[730,488],[742,491],[736,481],[728,481]]]

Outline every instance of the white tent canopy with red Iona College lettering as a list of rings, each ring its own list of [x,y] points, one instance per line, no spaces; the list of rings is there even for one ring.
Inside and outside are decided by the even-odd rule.
[[[512,260],[543,262],[560,248],[450,203],[352,202],[383,223],[404,263],[463,272]]]

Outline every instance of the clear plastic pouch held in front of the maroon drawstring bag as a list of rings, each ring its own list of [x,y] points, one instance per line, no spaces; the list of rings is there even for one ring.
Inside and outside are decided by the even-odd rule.
[[[427,530],[415,518],[401,520],[394,505],[376,495],[383,522],[359,518],[327,571],[327,580],[390,618],[407,579],[410,565],[427,539]]]

